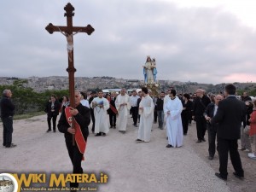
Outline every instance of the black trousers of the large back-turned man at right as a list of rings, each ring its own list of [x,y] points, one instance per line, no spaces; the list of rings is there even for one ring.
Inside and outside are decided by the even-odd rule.
[[[230,152],[230,160],[237,175],[243,177],[244,172],[241,166],[240,154],[238,152],[237,139],[229,140],[217,138],[218,140],[218,156],[219,156],[219,172],[223,177],[228,176],[227,166]]]

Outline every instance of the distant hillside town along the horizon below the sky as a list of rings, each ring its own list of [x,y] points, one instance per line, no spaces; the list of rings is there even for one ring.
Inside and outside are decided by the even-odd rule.
[[[29,77],[20,79],[15,77],[0,77],[0,84],[20,84],[22,87],[32,88],[36,92],[45,90],[68,90],[67,76],[50,76],[50,77]],[[238,90],[248,91],[251,95],[256,95],[256,83],[247,82],[230,82],[235,84]],[[139,79],[116,79],[113,77],[76,77],[75,89],[77,90],[103,90],[103,89],[137,89],[141,87],[143,80]],[[201,84],[196,82],[180,82],[172,80],[158,80],[159,90],[166,91],[169,87],[174,87],[179,93],[194,93],[196,89],[203,89],[211,93],[224,91],[225,84]]]

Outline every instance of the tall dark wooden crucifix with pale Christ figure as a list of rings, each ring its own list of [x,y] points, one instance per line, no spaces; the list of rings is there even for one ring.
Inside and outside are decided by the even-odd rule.
[[[76,69],[74,68],[73,62],[73,35],[78,32],[86,32],[90,35],[94,32],[94,28],[90,25],[88,26],[73,26],[73,5],[71,3],[67,3],[66,7],[64,8],[66,13],[64,16],[67,17],[67,26],[54,26],[52,23],[49,23],[45,29],[52,34],[53,32],[61,32],[67,38],[67,59],[68,59],[68,80],[69,80],[69,98],[70,98],[70,106],[75,108],[74,103],[74,73]],[[73,124],[72,124],[73,125]],[[73,143],[74,144],[74,143]]]

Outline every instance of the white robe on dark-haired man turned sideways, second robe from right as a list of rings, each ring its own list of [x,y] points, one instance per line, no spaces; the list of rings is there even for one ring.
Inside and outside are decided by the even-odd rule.
[[[139,109],[139,114],[141,117],[137,138],[143,140],[144,142],[149,142],[154,120],[153,99],[150,96],[143,97],[139,108],[141,107],[143,107],[143,110]]]

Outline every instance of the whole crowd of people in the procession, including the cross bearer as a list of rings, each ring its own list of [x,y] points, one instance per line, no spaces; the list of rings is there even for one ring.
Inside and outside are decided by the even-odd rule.
[[[4,90],[0,103],[5,148],[16,147],[11,137],[15,111],[11,96],[10,90]],[[196,90],[194,94],[177,94],[176,90],[170,88],[166,92],[161,91],[159,96],[152,96],[151,90],[143,87],[139,92],[133,90],[131,96],[125,88],[120,93],[110,94],[92,91],[88,96],[76,91],[75,96],[75,108],[69,107],[68,96],[63,96],[60,102],[52,95],[44,110],[47,113],[47,132],[56,131],[56,119],[61,113],[57,127],[65,134],[73,173],[83,172],[81,160],[90,134],[90,121],[91,132],[96,137],[106,137],[109,129],[117,129],[125,134],[130,115],[133,126],[138,127],[136,143],[150,142],[153,125],[158,123],[160,130],[166,129],[166,148],[182,147],[189,125],[195,122],[196,143],[208,141],[208,159],[212,160],[218,151],[219,172],[215,175],[221,179],[226,180],[228,176],[229,153],[235,169],[234,175],[239,178],[244,177],[244,172],[238,149],[247,152],[250,159],[256,159],[256,100],[252,101],[247,92],[240,97],[236,96],[233,84],[226,85],[224,94],[217,95],[207,95],[202,89]],[[72,129],[72,121],[69,119],[74,119],[79,133]],[[240,138],[241,148],[238,148],[237,140]],[[76,187],[77,183],[73,183],[73,186]]]

